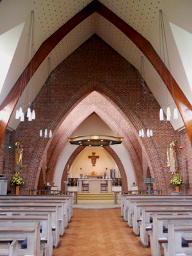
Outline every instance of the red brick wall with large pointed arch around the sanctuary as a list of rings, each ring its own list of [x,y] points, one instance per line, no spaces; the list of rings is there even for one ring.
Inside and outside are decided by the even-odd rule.
[[[12,144],[21,141],[24,145],[20,176],[26,181],[26,185],[22,186],[20,193],[28,193],[29,189],[38,187],[40,170],[44,170],[46,166],[51,168],[46,174],[46,181],[52,182],[58,157],[67,143],[68,136],[93,111],[106,121],[118,136],[124,136],[123,144],[129,153],[139,189],[143,188],[142,166],[145,157],[150,174],[157,179],[154,188],[163,189],[164,193],[172,191],[173,188],[169,185],[172,175],[166,167],[168,143],[182,138],[186,143],[186,158],[191,146],[185,131],[175,132],[170,123],[159,121],[159,105],[148,89],[145,94],[148,101],[147,115],[141,97],[140,81],[138,71],[95,35],[58,65],[51,74],[52,108],[49,122],[47,123],[45,114],[47,93],[44,85],[36,97],[36,120],[23,122],[15,132],[12,132]],[[92,99],[90,106],[83,107],[83,100],[88,99],[87,96],[93,91],[99,92],[100,97]],[[71,115],[71,118],[66,123],[68,115]],[[52,129],[52,139],[39,138],[39,131],[45,126]],[[146,131],[147,127],[153,129],[154,137],[139,138],[138,131],[141,128]],[[7,141],[8,136],[5,136],[1,147],[3,152]],[[180,164],[181,152],[178,151],[177,154]],[[4,172],[9,175],[13,173],[13,164],[12,149],[9,166],[6,165]],[[191,168],[189,156],[188,168],[186,165],[185,177],[190,179],[187,171]],[[189,189],[186,190],[189,193]]]

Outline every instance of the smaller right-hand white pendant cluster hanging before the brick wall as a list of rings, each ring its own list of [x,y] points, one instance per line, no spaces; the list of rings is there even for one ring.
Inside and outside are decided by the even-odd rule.
[[[146,108],[146,120],[148,121],[149,120],[149,118],[148,118],[148,99],[147,99],[148,90],[147,90],[147,86],[145,85],[145,82],[144,82],[144,79],[143,79],[143,74],[144,74],[143,56],[141,56],[141,100],[142,100],[141,108],[142,109]],[[143,105],[145,105],[145,106],[143,106]],[[141,138],[145,137],[144,129],[140,129],[139,136]],[[152,129],[147,129],[147,137],[150,138],[152,136],[153,136]]]

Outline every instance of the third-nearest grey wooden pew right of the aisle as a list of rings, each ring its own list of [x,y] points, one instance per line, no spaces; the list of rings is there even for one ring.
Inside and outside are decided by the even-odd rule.
[[[156,214],[170,214],[170,215],[178,215],[178,214],[183,214],[183,215],[192,215],[192,207],[190,208],[185,208],[181,209],[181,207],[178,205],[177,207],[167,207],[166,209],[164,208],[157,208],[157,207],[142,207],[141,209],[141,215],[142,215],[142,220],[140,221],[140,240],[141,243],[144,246],[148,246],[148,230],[151,230],[151,225],[150,223],[150,216],[153,213]]]

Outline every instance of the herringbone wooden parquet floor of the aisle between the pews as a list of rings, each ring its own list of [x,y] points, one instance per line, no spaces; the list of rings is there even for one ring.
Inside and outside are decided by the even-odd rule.
[[[53,256],[148,256],[120,209],[74,209]]]

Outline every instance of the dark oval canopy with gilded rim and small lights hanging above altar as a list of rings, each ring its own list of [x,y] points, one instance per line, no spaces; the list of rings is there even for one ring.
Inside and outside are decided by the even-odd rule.
[[[85,135],[68,138],[70,144],[88,146],[88,147],[104,147],[122,143],[124,138],[107,136],[107,135]]]

